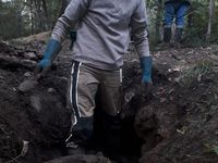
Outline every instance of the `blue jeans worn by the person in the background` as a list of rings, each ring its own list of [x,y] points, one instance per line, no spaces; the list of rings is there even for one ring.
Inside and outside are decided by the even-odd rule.
[[[175,25],[178,28],[184,26],[184,14],[187,11],[187,3],[169,2],[165,4],[165,27],[171,27],[173,18],[175,17]]]

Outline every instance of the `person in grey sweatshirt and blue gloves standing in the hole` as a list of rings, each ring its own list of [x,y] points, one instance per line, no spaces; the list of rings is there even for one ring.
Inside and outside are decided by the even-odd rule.
[[[130,36],[140,58],[142,83],[152,84],[152,57],[147,38],[144,0],[71,0],[58,18],[47,43],[38,74],[48,71],[71,28],[76,29],[72,49],[72,71],[68,91],[72,127],[66,147],[87,145],[93,136],[96,92],[100,91],[106,134],[114,134],[122,103],[122,65]],[[131,33],[130,34],[130,28]],[[49,72],[47,72],[49,73]],[[45,74],[45,73],[44,73]],[[119,131],[118,131],[119,133]]]

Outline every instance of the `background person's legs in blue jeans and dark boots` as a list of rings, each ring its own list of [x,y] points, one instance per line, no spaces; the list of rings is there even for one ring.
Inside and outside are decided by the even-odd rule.
[[[184,14],[190,4],[190,0],[165,0],[164,42],[170,42],[173,20],[175,20],[177,26],[173,42],[181,42],[184,27]]]

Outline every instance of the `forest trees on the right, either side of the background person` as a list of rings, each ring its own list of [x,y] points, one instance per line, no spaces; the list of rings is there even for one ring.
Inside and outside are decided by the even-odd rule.
[[[147,0],[148,30],[154,47],[162,39],[164,0]],[[183,43],[190,47],[218,42],[218,0],[192,0],[185,15]]]

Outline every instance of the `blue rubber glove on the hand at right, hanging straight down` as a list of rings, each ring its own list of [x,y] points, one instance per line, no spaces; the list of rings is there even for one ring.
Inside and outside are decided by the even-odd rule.
[[[143,84],[153,84],[152,80],[152,66],[153,66],[153,59],[152,57],[143,57],[140,58],[141,68],[143,71],[142,82]]]

